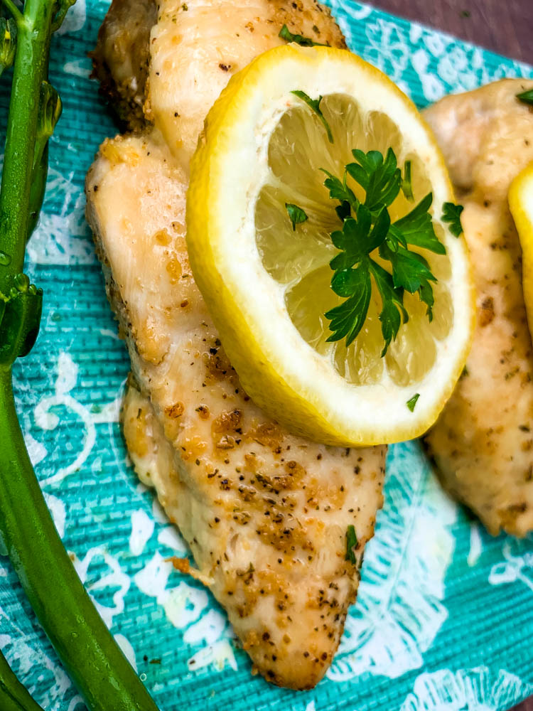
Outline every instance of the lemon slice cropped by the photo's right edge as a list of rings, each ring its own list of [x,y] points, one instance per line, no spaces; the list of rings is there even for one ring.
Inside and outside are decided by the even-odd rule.
[[[533,333],[533,163],[518,173],[509,188],[509,207],[522,247],[522,288],[529,333]]]

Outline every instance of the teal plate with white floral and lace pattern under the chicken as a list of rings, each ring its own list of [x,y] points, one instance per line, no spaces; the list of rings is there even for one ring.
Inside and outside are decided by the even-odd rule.
[[[27,264],[45,292],[43,321],[36,348],[15,368],[31,458],[100,614],[161,711],[511,707],[533,693],[533,538],[490,538],[442,493],[415,442],[390,449],[357,605],[315,690],[252,677],[224,611],[166,562],[185,545],[124,449],[118,412],[129,360],[84,219],[85,173],[100,141],[116,132],[87,58],[107,5],[77,0],[54,39],[50,75],[64,112]],[[350,48],[419,106],[501,77],[533,77],[527,65],[370,6],[331,5]],[[0,647],[46,711],[85,708],[5,557]]]

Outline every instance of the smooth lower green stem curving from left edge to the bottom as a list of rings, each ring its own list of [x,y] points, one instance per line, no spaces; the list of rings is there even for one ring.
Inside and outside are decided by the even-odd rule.
[[[158,711],[63,547],[0,370],[0,536],[45,633],[92,711]]]

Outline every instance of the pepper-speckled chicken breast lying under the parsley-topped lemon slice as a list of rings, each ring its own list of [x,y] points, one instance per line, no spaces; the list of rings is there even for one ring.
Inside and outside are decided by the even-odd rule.
[[[144,103],[155,128],[104,142],[87,176],[87,215],[134,373],[123,410],[126,443],[198,569],[176,565],[210,587],[267,680],[311,688],[355,600],[362,550],[382,505],[386,448],[313,444],[249,400],[190,272],[185,193],[203,118],[230,75],[279,43],[283,23],[336,46],[342,36],[311,0],[188,0],[186,11],[163,1],[148,90],[138,81],[121,95],[124,66],[139,65],[122,50],[144,57],[146,47],[136,41],[139,17],[132,14],[129,27],[119,7],[96,55],[107,53],[106,85],[123,110],[133,107],[131,125],[139,127],[136,107]],[[117,16],[125,35],[114,55]],[[346,560],[349,525],[355,563]]]

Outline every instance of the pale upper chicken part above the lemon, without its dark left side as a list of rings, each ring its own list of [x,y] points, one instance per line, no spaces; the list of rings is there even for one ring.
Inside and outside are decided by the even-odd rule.
[[[161,4],[151,33],[150,109],[172,153],[188,164],[205,116],[230,76],[280,44],[289,28],[344,46],[316,0],[208,0]]]

